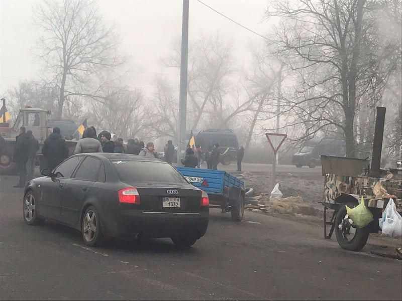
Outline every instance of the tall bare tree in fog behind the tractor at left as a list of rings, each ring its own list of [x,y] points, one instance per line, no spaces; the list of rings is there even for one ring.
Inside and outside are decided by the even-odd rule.
[[[100,68],[121,63],[115,35],[91,0],[44,0],[36,10],[36,21],[43,31],[40,57],[58,88],[56,117],[61,118],[66,97],[94,94],[88,92],[89,79]]]

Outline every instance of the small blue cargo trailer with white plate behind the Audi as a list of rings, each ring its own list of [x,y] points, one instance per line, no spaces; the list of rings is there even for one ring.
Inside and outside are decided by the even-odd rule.
[[[244,182],[225,171],[177,167],[184,178],[195,187],[208,193],[211,208],[230,212],[234,221],[244,216],[246,192]]]

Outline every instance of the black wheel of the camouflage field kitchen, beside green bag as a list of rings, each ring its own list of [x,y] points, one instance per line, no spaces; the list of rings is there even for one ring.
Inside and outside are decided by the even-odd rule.
[[[357,204],[346,204],[349,208],[353,208],[357,206]],[[360,251],[366,244],[368,236],[370,235],[370,231],[367,227],[364,228],[353,228],[355,231],[355,235],[351,239],[347,239],[345,237],[345,232],[350,232],[347,225],[344,223],[344,218],[346,216],[346,207],[342,205],[339,209],[336,219],[335,219],[335,234],[338,244],[341,246],[342,249],[349,250],[349,251]],[[342,225],[342,229],[339,229],[339,225]],[[349,224],[350,225],[350,224]]]

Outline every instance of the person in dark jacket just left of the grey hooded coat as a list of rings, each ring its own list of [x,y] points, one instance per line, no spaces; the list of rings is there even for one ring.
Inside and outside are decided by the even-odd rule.
[[[42,154],[46,160],[47,168],[54,169],[68,157],[68,146],[60,134],[60,128],[53,128],[42,147]]]

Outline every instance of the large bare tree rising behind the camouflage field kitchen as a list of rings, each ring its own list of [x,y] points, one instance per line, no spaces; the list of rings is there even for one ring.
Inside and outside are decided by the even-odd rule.
[[[293,70],[304,69],[297,97],[288,99],[288,111],[297,108],[309,116],[309,134],[327,126],[341,129],[350,157],[355,156],[356,106],[370,87],[383,89],[389,73],[382,63],[394,51],[378,44],[373,24],[378,4],[366,0],[278,1],[267,12],[267,16],[284,18],[274,41],[278,54]],[[313,75],[315,81],[308,81]],[[314,93],[308,95],[313,88]]]

